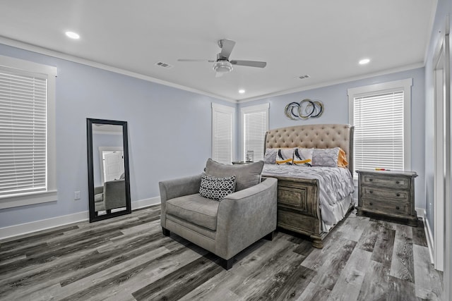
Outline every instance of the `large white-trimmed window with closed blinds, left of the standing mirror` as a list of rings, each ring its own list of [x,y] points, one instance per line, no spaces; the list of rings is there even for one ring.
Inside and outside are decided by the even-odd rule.
[[[0,56],[0,209],[57,200],[57,68]]]

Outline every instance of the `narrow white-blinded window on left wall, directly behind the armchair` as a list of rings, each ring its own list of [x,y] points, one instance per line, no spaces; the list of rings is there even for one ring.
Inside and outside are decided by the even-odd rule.
[[[212,104],[212,159],[222,164],[232,163],[232,124],[235,108]]]

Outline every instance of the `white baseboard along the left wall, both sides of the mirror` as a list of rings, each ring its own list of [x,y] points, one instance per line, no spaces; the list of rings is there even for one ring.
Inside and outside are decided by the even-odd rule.
[[[132,202],[132,210],[143,207],[160,204],[160,197],[151,197],[149,199],[140,199]],[[59,226],[69,225],[70,223],[78,223],[80,221],[88,221],[90,218],[88,211],[77,212],[63,216],[56,216],[50,219],[42,219],[40,221],[32,221],[30,223],[20,223],[14,226],[0,228],[0,240],[12,238],[14,236],[33,233],[37,231],[55,228]]]

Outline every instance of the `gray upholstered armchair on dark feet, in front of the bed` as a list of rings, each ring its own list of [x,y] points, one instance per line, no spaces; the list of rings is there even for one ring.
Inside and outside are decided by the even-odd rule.
[[[173,232],[194,242],[216,254],[222,266],[230,269],[234,255],[261,238],[271,240],[276,229],[278,180],[261,181],[262,166],[262,161],[248,166],[208,161],[206,173],[210,175],[237,175],[239,191],[220,202],[199,195],[201,175],[160,182],[163,234]],[[249,171],[256,169],[258,173],[250,177]]]

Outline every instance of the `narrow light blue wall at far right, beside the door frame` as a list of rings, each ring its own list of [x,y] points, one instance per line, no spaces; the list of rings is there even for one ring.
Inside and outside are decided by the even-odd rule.
[[[439,46],[441,37],[444,37],[446,28],[446,16],[449,16],[449,27],[452,27],[452,1],[438,0],[436,16],[432,29],[432,36],[428,46],[427,60],[425,63],[425,191],[427,198],[427,221],[432,234],[434,233],[434,77],[433,59],[434,52]],[[450,38],[449,38],[450,39]],[[450,41],[452,44],[452,41]],[[451,55],[452,56],[452,55]],[[451,64],[452,66],[452,64]],[[450,99],[449,99],[450,101]],[[449,166],[451,168],[451,166]],[[446,183],[451,185],[451,183]],[[451,200],[447,200],[450,202]]]

